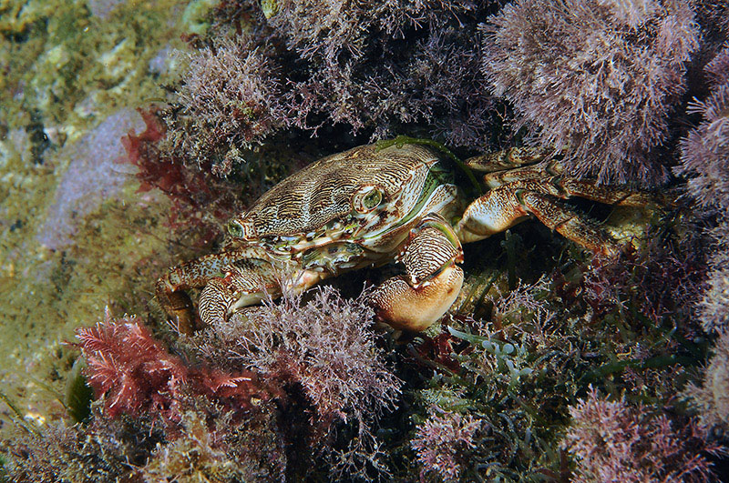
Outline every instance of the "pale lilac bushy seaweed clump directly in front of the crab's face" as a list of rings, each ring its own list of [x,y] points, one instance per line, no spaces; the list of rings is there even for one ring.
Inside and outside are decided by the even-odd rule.
[[[335,476],[384,472],[375,421],[394,408],[401,381],[386,367],[372,331],[374,311],[365,297],[346,300],[332,287],[284,294],[235,314],[192,338],[197,351],[224,371],[249,370],[283,388],[292,467],[317,448],[329,455]],[[334,447],[337,428],[354,426],[345,448]],[[304,445],[304,446],[303,446]]]

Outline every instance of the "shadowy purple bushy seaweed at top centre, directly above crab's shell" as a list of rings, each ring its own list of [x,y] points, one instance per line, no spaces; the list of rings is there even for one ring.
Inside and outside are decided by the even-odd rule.
[[[474,115],[483,114],[488,96],[474,42],[474,21],[482,8],[477,5],[282,2],[269,24],[310,66],[309,77],[295,82],[289,93],[295,124],[316,128],[344,122],[354,132],[369,127],[383,137],[394,134],[393,123],[435,125],[444,119],[453,123],[443,126],[448,142],[479,143],[485,126]]]

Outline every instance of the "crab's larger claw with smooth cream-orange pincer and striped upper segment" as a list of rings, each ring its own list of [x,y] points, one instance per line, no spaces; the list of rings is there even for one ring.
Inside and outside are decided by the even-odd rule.
[[[404,275],[385,280],[370,296],[377,317],[395,329],[421,331],[453,305],[463,285],[463,250],[451,226],[429,215],[410,232],[399,260]]]

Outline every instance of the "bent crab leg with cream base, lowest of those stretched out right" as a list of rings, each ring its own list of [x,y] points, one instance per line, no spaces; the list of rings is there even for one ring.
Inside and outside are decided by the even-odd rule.
[[[464,243],[477,241],[504,231],[529,215],[595,253],[611,255],[618,251],[604,230],[558,198],[536,191],[512,191],[508,187],[493,189],[468,206],[456,232]]]

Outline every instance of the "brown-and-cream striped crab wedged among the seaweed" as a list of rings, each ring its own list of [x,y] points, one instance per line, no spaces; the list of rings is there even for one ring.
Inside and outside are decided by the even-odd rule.
[[[647,193],[564,176],[543,153],[512,148],[466,161],[488,191],[467,204],[450,158],[419,144],[359,146],[324,157],[273,186],[228,224],[220,253],[173,267],[157,296],[180,332],[231,317],[266,294],[303,291],[328,277],[396,263],[401,273],[369,295],[376,317],[422,331],[444,316],[463,284],[461,243],[529,218],[596,253],[619,247],[561,200],[580,196],[645,206]],[[280,274],[289,274],[284,282]],[[197,313],[188,290],[201,288]],[[199,314],[199,317],[198,315]]]

